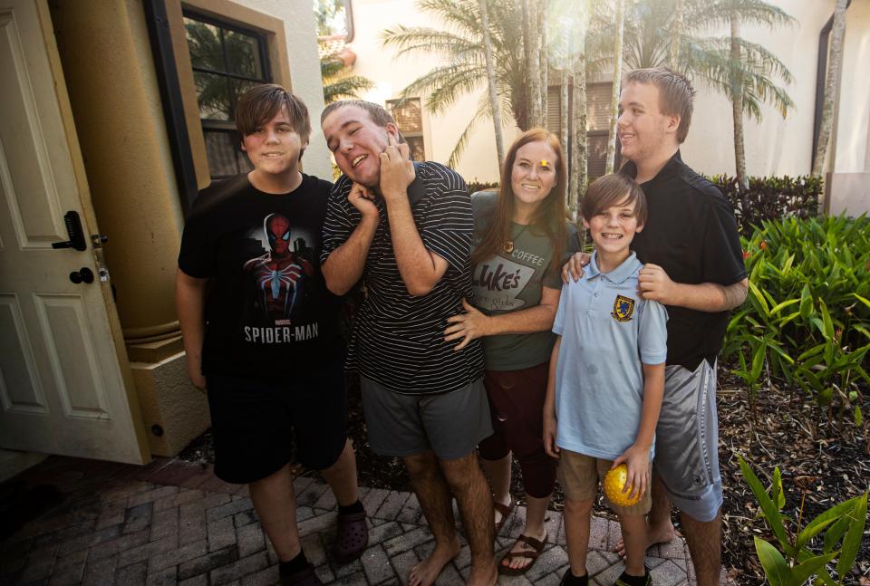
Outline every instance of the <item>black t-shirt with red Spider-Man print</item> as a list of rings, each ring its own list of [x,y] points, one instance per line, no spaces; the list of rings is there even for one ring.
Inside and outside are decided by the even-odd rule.
[[[284,379],[342,351],[341,298],[320,270],[328,181],[275,195],[238,175],[199,192],[179,268],[208,278],[205,375]]]

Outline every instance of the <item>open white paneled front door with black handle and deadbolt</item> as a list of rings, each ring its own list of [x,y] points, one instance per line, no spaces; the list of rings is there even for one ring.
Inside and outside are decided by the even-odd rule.
[[[0,111],[0,447],[141,464],[150,456],[45,0],[0,0]],[[71,211],[83,251],[52,246],[69,240]]]

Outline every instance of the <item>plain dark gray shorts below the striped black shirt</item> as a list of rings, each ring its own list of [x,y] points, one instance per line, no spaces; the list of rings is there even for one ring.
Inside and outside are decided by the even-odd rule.
[[[443,395],[403,395],[360,377],[369,446],[383,456],[468,456],[492,435],[483,379]]]

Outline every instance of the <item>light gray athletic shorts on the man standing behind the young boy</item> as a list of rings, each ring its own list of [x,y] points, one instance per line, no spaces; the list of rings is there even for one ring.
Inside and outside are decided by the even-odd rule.
[[[655,428],[655,472],[683,513],[712,521],[722,505],[716,367],[664,370],[664,399]]]

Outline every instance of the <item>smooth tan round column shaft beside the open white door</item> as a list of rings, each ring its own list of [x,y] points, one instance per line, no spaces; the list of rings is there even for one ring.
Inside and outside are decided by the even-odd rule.
[[[124,337],[177,331],[182,216],[145,14],[63,2],[53,24]]]

